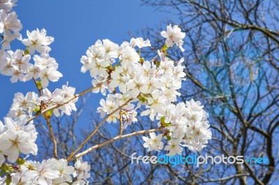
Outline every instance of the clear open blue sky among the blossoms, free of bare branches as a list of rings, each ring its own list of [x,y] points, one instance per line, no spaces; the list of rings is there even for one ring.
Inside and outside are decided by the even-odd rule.
[[[20,0],[14,10],[22,22],[22,37],[26,31],[46,29],[47,35],[54,37],[50,47],[50,56],[59,63],[63,77],[48,88],[61,88],[69,81],[69,86],[84,90],[91,86],[89,73],[80,72],[80,57],[86,49],[98,39],[108,38],[121,44],[130,40],[130,33],[137,33],[146,26],[156,28],[162,19],[169,18],[169,13],[156,11],[150,6],[141,6],[140,1],[103,0],[103,1],[55,1],[55,0]],[[16,41],[13,50],[25,49]],[[8,113],[14,94],[35,91],[33,81],[10,83],[9,77],[0,77],[0,120]],[[100,99],[100,96],[97,96]],[[96,96],[87,103],[91,111],[98,106]],[[92,108],[93,106],[93,108]]]

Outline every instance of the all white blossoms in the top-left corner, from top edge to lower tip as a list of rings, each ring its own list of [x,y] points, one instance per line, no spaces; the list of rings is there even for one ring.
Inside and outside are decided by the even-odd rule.
[[[22,24],[12,10],[15,2],[16,0],[0,1],[0,7],[3,8],[0,10],[0,34],[3,34],[0,35],[3,39],[0,50],[0,74],[10,76],[12,83],[39,79],[40,86],[46,88],[49,81],[55,82],[62,77],[58,71],[58,64],[49,54],[51,50],[49,45],[54,42],[54,38],[47,36],[45,29],[36,29],[27,31],[28,38],[22,39],[20,34]],[[21,40],[27,49],[6,51],[10,49],[10,42],[15,38]]]

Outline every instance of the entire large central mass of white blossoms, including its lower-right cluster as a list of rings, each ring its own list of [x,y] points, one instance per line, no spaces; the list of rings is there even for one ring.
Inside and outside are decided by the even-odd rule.
[[[107,122],[123,120],[126,128],[137,122],[138,109],[140,115],[149,115],[152,121],[159,121],[158,127],[167,129],[164,134],[143,137],[144,147],[149,151],[163,150],[163,138],[167,140],[165,150],[169,155],[181,154],[182,147],[200,151],[211,139],[208,114],[193,99],[177,102],[178,90],[186,77],[185,67],[183,58],[172,61],[167,56],[167,49],[174,44],[183,51],[186,34],[178,26],[169,25],[161,35],[166,38],[165,45],[151,60],[140,54],[142,47],[151,46],[149,40],[132,38],[120,46],[110,40],[98,40],[82,56],[82,72],[89,70],[93,85],[98,86],[93,93],[109,93],[100,100],[97,110],[102,118],[108,115]]]

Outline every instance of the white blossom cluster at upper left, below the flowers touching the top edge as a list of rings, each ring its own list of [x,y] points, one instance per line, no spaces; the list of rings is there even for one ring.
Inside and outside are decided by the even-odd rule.
[[[51,42],[54,38],[46,36],[45,29],[39,31],[27,31],[28,38],[22,40],[22,43],[27,46],[24,51],[17,49],[15,52],[8,50],[3,51],[0,61],[0,73],[6,76],[11,76],[12,83],[19,81],[29,81],[31,79],[39,79],[40,86],[46,88],[49,81],[58,81],[62,74],[58,71],[58,63],[50,57]],[[3,47],[2,47],[3,49]],[[38,51],[40,55],[35,54]],[[34,63],[30,63],[31,54]]]

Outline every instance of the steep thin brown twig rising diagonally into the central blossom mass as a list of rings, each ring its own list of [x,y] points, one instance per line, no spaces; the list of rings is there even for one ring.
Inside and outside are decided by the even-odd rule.
[[[127,101],[125,104],[119,106],[119,107],[116,108],[114,111],[112,111],[112,113],[110,113],[109,115],[107,115],[107,117],[105,117],[105,118],[102,120],[102,122],[100,122],[100,124],[98,124],[98,126],[91,132],[91,134],[89,134],[89,136],[87,136],[87,137],[84,139],[84,141],[82,142],[82,144],[80,144],[80,146],[77,147],[77,149],[76,149],[74,152],[70,153],[70,155],[69,155],[68,158],[67,158],[67,161],[70,161],[70,159],[72,159],[73,156],[74,156],[80,149],[82,149],[82,147],[84,146],[84,144],[85,144],[94,134],[96,134],[96,132],[98,131],[98,129],[100,128],[100,126],[107,120],[107,118],[110,118],[110,116],[112,116],[114,113],[116,113],[117,111],[119,111],[119,109],[122,108],[123,106],[126,106],[126,105],[127,105],[130,101],[132,101],[132,100],[133,100],[133,98],[128,99],[128,101]]]

